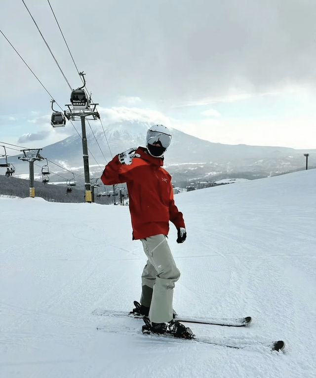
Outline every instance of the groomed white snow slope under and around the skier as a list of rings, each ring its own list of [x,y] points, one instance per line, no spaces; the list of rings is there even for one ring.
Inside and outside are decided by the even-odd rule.
[[[250,315],[246,328],[191,328],[245,344],[282,339],[284,351],[153,340],[142,320],[91,315],[139,300],[145,256],[128,208],[2,197],[1,377],[316,377],[316,170],[175,200],[188,231],[183,244],[169,233],[176,311]]]

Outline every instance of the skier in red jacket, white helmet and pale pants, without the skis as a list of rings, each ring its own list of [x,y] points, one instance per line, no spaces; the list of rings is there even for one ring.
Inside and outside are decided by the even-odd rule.
[[[163,153],[170,142],[167,127],[150,127],[147,148],[119,153],[106,165],[101,180],[104,185],[126,182],[133,240],[142,242],[148,259],[142,273],[141,305],[138,303],[132,313],[149,317],[144,319],[144,332],[191,339],[191,329],[173,319],[173,288],[180,271],[166,240],[169,221],[177,228],[178,243],[186,240],[187,233],[183,215],[174,204],[171,176],[162,168]]]

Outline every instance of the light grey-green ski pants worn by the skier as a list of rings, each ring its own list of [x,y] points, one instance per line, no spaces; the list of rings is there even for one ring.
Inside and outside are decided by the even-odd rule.
[[[174,283],[180,277],[165,235],[141,239],[148,258],[142,274],[141,304],[150,307],[149,318],[155,323],[169,322],[173,317]]]

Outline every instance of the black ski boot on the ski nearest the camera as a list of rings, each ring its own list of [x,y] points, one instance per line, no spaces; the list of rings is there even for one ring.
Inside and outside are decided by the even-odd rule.
[[[172,319],[167,323],[154,323],[148,317],[144,317],[142,331],[144,334],[171,335],[178,339],[193,339],[194,334],[191,328],[184,326],[178,320]]]

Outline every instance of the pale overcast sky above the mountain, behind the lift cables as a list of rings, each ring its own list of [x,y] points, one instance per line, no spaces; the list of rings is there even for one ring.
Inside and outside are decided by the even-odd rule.
[[[24,1],[79,87],[48,1]],[[315,0],[50,4],[106,127],[139,119],[211,142],[316,149]],[[22,0],[1,1],[0,29],[64,108],[70,88]],[[0,141],[40,148],[73,134],[50,126],[50,96],[1,34],[0,68]]]

